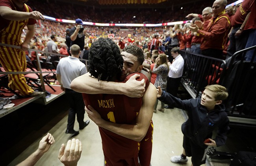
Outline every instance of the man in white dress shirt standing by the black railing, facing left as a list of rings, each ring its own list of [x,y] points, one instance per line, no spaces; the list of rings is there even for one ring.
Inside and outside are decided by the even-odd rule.
[[[184,59],[180,55],[180,49],[178,47],[171,49],[171,54],[174,59],[172,63],[168,62],[169,73],[167,77],[167,92],[177,97],[177,92],[184,69]],[[167,105],[165,108],[172,109],[173,107]]]

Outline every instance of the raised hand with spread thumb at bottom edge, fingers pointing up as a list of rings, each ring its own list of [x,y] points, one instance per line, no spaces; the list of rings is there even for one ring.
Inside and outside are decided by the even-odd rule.
[[[82,142],[79,139],[72,139],[67,142],[67,146],[65,148],[65,144],[61,144],[61,148],[59,149],[59,160],[65,166],[76,166],[79,161],[82,153]]]

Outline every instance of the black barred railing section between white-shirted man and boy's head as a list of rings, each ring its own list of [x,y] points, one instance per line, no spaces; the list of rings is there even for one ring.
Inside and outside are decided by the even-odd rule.
[[[187,51],[180,51],[180,54],[184,59],[182,83],[189,87],[193,98],[198,97],[206,85],[221,84],[226,61]]]

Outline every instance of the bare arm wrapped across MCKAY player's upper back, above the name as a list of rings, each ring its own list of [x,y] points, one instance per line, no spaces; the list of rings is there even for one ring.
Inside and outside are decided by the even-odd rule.
[[[90,73],[75,78],[70,87],[72,90],[86,94],[124,94],[129,97],[141,97],[145,92],[145,79],[137,81],[138,74],[132,76],[126,83],[98,81]]]

